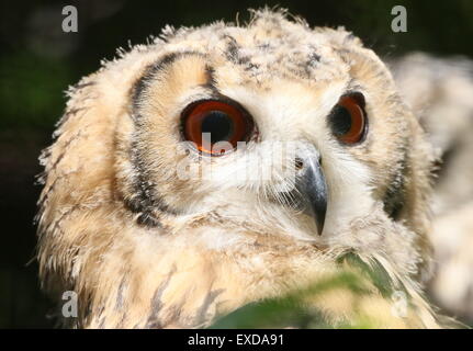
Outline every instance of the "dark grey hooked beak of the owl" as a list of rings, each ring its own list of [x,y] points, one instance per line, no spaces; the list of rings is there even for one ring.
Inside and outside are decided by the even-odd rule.
[[[324,230],[327,213],[327,183],[320,168],[319,157],[299,158],[302,169],[299,171],[295,188],[304,211],[315,218],[318,235]]]

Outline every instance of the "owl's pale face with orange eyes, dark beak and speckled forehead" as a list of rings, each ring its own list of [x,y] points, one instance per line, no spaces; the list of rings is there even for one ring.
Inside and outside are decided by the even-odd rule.
[[[129,98],[138,222],[215,213],[326,241],[379,204],[399,215],[414,121],[357,38],[260,23],[174,41]]]

